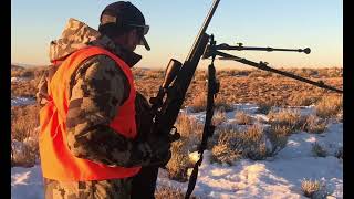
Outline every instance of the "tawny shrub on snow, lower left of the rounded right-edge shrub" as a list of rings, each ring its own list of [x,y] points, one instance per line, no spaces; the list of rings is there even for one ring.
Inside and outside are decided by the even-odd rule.
[[[281,109],[280,112],[270,112],[268,114],[271,125],[288,126],[291,133],[302,129],[305,118],[301,116],[299,111]]]

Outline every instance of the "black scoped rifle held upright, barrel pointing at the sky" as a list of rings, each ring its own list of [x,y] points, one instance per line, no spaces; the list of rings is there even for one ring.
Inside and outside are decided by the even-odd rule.
[[[149,98],[153,115],[150,133],[164,137],[168,139],[168,142],[177,140],[180,137],[174,124],[176,123],[198,63],[208,45],[210,36],[206,33],[206,30],[219,2],[220,0],[214,0],[211,9],[205,19],[184,64],[171,59],[166,67],[165,78],[159,86],[157,95]],[[152,186],[150,190],[148,190],[149,196],[154,196],[158,168],[159,166],[152,166],[146,168],[145,171],[149,174],[149,177],[145,179],[145,182]]]

